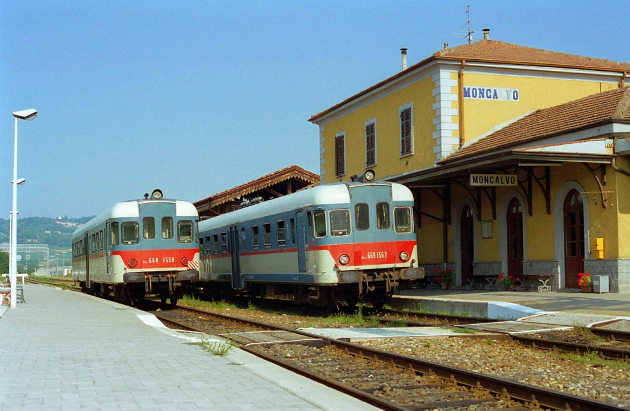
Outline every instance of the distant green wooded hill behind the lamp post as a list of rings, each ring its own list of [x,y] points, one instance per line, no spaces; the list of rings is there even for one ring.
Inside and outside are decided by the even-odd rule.
[[[18,217],[18,243],[48,244],[70,248],[74,230],[93,217]],[[0,243],[8,243],[8,241],[9,220],[0,218]]]

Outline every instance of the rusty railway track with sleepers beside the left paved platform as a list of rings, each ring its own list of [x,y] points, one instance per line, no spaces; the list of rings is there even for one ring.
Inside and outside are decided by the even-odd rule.
[[[434,408],[532,410],[612,410],[616,406],[516,381],[371,349],[258,321],[177,306],[155,313],[171,327],[197,332],[243,336],[293,335],[294,342],[255,342],[241,349],[284,368],[392,410]],[[174,315],[176,313],[176,315]],[[182,313],[186,313],[183,315]],[[178,316],[175,319],[175,316]],[[215,328],[219,323],[219,332]],[[232,329],[225,332],[226,328]],[[240,331],[243,330],[243,331]],[[259,333],[252,333],[258,330]],[[290,337],[289,337],[290,338]],[[296,339],[301,342],[295,342]]]

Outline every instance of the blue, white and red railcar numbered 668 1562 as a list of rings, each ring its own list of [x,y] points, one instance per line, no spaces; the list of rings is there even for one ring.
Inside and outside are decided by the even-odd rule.
[[[199,223],[200,285],[209,296],[382,306],[424,276],[413,221],[413,195],[396,183],[331,183],[250,200]]]

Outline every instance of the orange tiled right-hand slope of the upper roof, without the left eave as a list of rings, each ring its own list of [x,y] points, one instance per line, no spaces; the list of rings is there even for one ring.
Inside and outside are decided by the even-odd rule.
[[[454,59],[493,60],[501,62],[517,62],[519,64],[544,64],[546,66],[592,67],[593,69],[612,69],[630,71],[630,64],[607,59],[595,59],[583,55],[535,49],[498,40],[481,40],[470,44],[462,44],[449,49],[442,49],[433,54],[435,57]]]

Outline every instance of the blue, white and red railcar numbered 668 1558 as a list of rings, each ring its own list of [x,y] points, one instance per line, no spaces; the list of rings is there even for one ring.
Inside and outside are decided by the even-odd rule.
[[[84,292],[176,304],[199,279],[195,206],[160,190],[144,197],[114,204],[72,234],[72,279]]]

